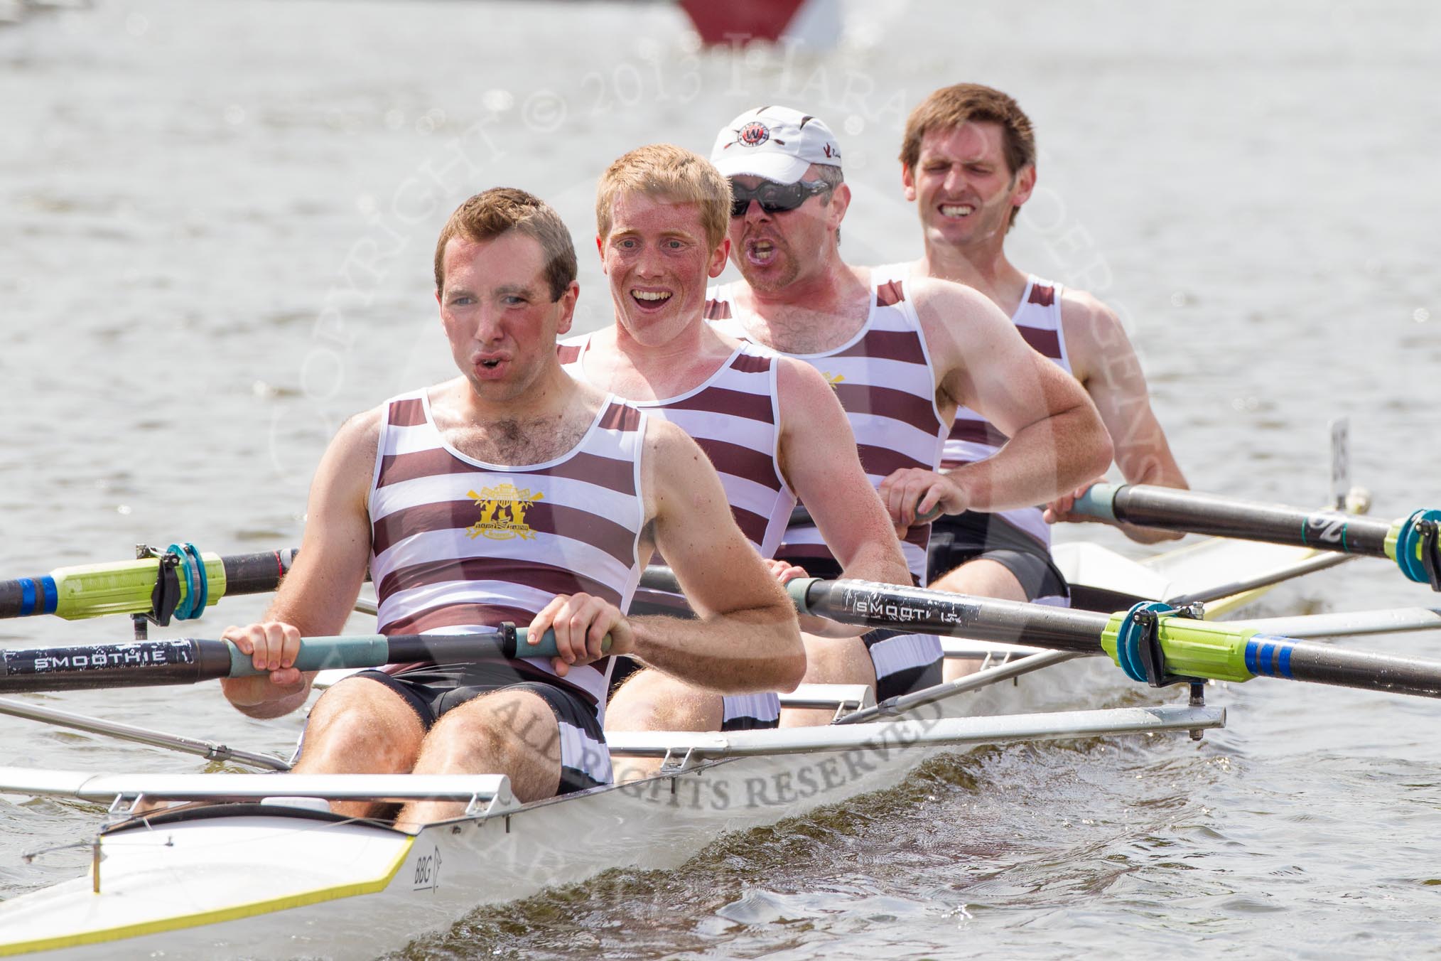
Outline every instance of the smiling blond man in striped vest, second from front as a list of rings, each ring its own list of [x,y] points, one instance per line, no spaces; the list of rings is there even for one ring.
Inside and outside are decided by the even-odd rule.
[[[731,511],[761,558],[772,558],[797,494],[813,506],[847,576],[905,584],[886,510],[856,457],[846,414],[810,366],[716,333],[705,323],[706,282],[725,268],[731,195],[689,150],[653,144],[607,169],[597,189],[597,245],[615,323],[561,344],[565,369],[651,418],[684,429],[720,475]],[[777,576],[804,575],[772,563]],[[830,631],[824,656],[852,683],[873,683],[865,657],[846,654],[860,628]],[[859,648],[859,645],[856,645]],[[720,696],[643,670],[615,693],[611,730],[739,730],[800,723],[774,692]],[[638,765],[637,772],[648,765]]]

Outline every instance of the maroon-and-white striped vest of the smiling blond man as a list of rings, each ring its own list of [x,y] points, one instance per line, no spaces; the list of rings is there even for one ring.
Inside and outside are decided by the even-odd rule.
[[[591,334],[559,346],[561,365],[585,380]],[[663,401],[625,401],[689,434],[720,475],[735,523],[762,558],[774,558],[795,494],[781,475],[781,409],[775,357],[742,343],[706,380]]]

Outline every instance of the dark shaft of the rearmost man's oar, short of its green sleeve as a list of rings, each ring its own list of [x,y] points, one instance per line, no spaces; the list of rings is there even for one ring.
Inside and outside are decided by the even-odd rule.
[[[1146,527],[1388,558],[1392,524],[1333,510],[1254,504],[1147,484],[1092,484],[1075,513]]]

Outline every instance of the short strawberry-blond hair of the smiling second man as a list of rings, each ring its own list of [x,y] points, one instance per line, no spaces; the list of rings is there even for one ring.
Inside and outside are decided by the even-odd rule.
[[[595,229],[602,239],[611,233],[611,209],[623,193],[695,203],[710,249],[720,246],[731,226],[731,182],[709,160],[684,147],[637,147],[605,169],[595,187]]]

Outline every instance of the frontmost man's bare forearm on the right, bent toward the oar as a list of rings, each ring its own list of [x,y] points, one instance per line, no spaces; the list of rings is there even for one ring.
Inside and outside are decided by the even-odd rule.
[[[630,622],[637,657],[719,694],[790,692],[806,674],[806,648],[788,605],[700,620],[634,617]]]

